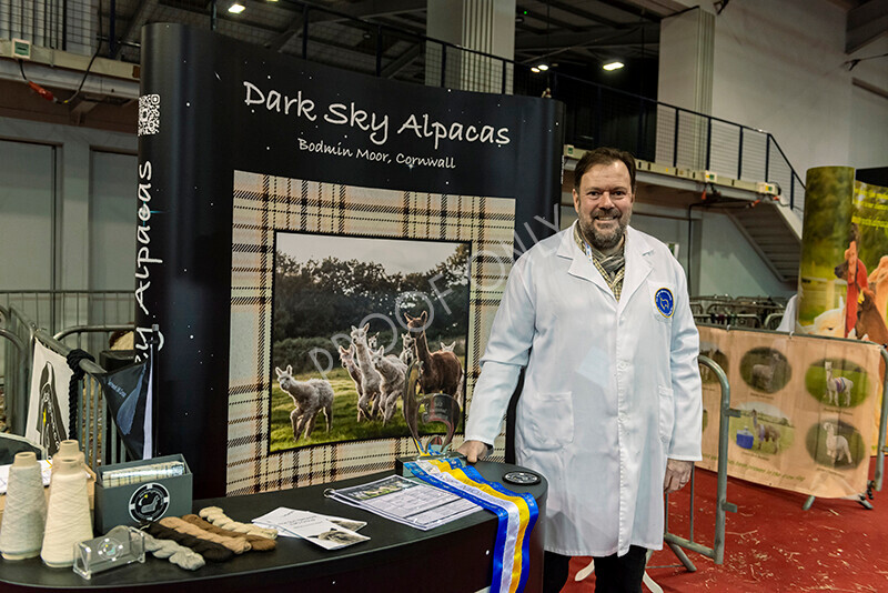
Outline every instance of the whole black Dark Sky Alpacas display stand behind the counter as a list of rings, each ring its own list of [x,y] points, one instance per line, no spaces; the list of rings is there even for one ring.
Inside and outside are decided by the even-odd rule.
[[[135,344],[159,324],[157,453],[196,497],[391,468],[411,360],[471,405],[512,259],[557,230],[561,103],[178,24],[143,29],[141,93]]]

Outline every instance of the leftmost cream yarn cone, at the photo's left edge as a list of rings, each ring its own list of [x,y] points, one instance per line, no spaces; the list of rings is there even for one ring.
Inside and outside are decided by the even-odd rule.
[[[9,469],[6,510],[0,525],[0,552],[6,560],[40,553],[47,522],[47,497],[37,455],[18,453]]]

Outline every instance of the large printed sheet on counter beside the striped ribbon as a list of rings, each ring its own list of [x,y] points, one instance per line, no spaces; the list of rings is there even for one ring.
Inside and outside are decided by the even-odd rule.
[[[431,530],[481,510],[455,494],[400,475],[359,486],[331,489],[324,494],[421,530]]]

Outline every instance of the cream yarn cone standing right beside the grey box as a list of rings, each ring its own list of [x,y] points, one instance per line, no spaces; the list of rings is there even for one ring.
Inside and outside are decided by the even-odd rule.
[[[40,557],[48,566],[74,563],[74,544],[92,539],[83,454],[53,458],[47,530]]]

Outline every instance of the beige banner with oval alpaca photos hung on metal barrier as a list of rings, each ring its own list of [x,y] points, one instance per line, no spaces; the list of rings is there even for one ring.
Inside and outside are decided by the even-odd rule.
[[[821,497],[866,491],[878,440],[880,348],[829,340],[700,326],[700,353],[728,376],[728,473]],[[700,366],[703,462],[717,469],[720,385]]]

